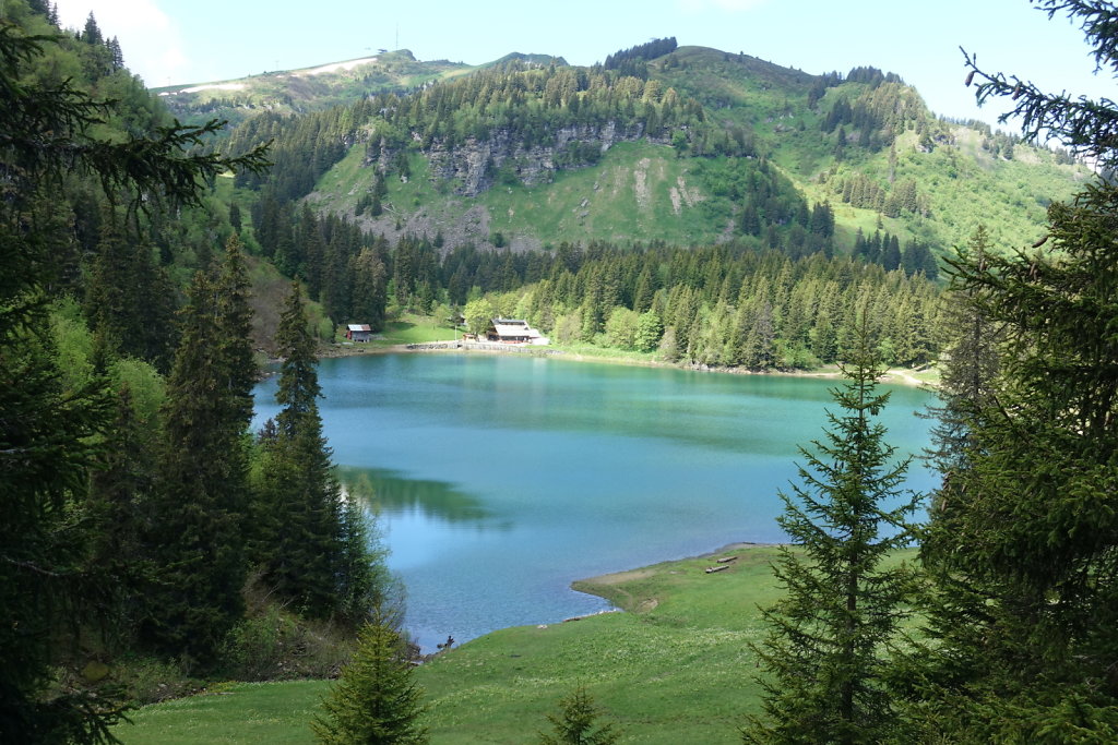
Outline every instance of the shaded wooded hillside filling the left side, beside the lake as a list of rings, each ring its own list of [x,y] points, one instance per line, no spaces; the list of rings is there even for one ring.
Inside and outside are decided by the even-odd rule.
[[[328,675],[397,598],[297,286],[283,409],[248,432],[250,280],[207,184],[265,150],[200,152],[219,123],[168,121],[92,15],[53,21],[0,19],[0,741],[106,742],[208,676]]]

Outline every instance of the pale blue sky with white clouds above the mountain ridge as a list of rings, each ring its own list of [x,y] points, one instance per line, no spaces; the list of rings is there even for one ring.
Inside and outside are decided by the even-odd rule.
[[[963,86],[959,47],[989,70],[1048,90],[1116,97],[1093,75],[1082,32],[1026,0],[57,0],[64,26],[92,10],[150,87],[224,80],[407,48],[419,59],[481,64],[510,51],[591,65],[675,36],[807,73],[872,65],[898,73],[937,114],[994,123]]]

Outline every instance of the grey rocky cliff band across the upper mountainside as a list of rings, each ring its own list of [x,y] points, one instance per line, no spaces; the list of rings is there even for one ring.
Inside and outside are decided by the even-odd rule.
[[[644,137],[644,125],[628,127],[616,122],[600,125],[578,125],[556,130],[543,144],[525,145],[509,130],[495,130],[485,140],[471,137],[464,144],[449,147],[435,141],[424,152],[435,179],[453,183],[453,191],[463,197],[476,197],[496,183],[515,180],[528,185],[551,181],[557,171],[594,165],[601,153],[615,143]],[[667,140],[650,139],[655,144]],[[391,163],[396,153],[383,144],[367,164]]]

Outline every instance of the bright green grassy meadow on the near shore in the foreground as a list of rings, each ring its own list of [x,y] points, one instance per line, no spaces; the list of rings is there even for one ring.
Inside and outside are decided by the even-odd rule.
[[[505,629],[418,669],[434,743],[531,742],[555,703],[582,684],[626,743],[733,743],[756,710],[758,604],[776,596],[771,546],[705,574],[714,555],[575,583],[629,612]],[[310,743],[326,681],[231,684],[133,713],[115,734],[141,743]]]

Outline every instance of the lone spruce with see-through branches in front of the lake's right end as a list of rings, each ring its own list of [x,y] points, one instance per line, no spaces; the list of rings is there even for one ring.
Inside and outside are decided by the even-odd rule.
[[[912,541],[906,518],[918,496],[903,491],[908,460],[874,418],[889,400],[877,391],[883,372],[870,350],[864,313],[859,351],[832,391],[841,413],[831,429],[800,449],[799,468],[780,526],[793,546],[780,548],[774,571],[786,595],[762,611],[769,627],[755,648],[765,717],[742,732],[747,743],[877,743],[894,735],[885,650],[904,618],[911,572],[883,566]]]

